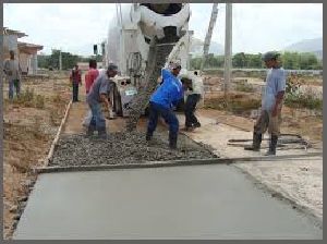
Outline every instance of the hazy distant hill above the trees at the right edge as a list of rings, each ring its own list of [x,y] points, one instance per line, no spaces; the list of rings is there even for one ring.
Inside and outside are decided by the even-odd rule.
[[[301,40],[283,49],[283,51],[314,52],[318,58],[323,58],[323,37]]]

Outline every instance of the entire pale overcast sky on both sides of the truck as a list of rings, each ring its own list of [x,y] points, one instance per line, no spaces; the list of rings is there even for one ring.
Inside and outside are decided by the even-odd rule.
[[[219,4],[213,41],[225,42],[225,4]],[[190,29],[204,39],[213,3],[191,3]],[[92,54],[93,44],[107,36],[114,3],[7,3],[3,25],[24,32],[21,41],[44,45],[44,52],[62,48]],[[323,37],[322,3],[234,3],[233,52],[265,52]]]

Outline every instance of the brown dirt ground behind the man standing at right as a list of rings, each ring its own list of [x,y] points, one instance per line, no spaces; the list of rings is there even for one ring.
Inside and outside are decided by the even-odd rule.
[[[255,122],[256,110],[261,105],[261,95],[253,93],[232,91],[230,100],[234,102],[233,108],[225,108],[222,91],[210,93],[205,98],[205,110],[207,115],[210,111],[219,114],[219,121],[238,126],[240,129],[252,131]],[[294,133],[311,141],[320,144],[323,142],[323,115],[308,109],[295,109],[283,106],[282,108],[281,133]],[[307,126],[310,124],[310,126]]]

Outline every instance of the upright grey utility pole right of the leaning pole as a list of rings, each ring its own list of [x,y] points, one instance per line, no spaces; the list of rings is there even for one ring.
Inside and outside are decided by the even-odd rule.
[[[223,91],[228,103],[228,90],[231,77],[231,53],[232,53],[232,3],[226,3],[226,29],[225,29],[225,72],[223,72]]]

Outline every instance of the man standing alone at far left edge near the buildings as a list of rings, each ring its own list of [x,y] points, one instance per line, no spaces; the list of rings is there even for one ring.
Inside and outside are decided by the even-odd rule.
[[[21,66],[19,61],[15,59],[15,52],[10,51],[10,59],[4,61],[3,72],[7,75],[9,81],[9,93],[8,97],[10,100],[13,100],[14,88],[16,90],[16,96],[20,96],[21,93]]]

